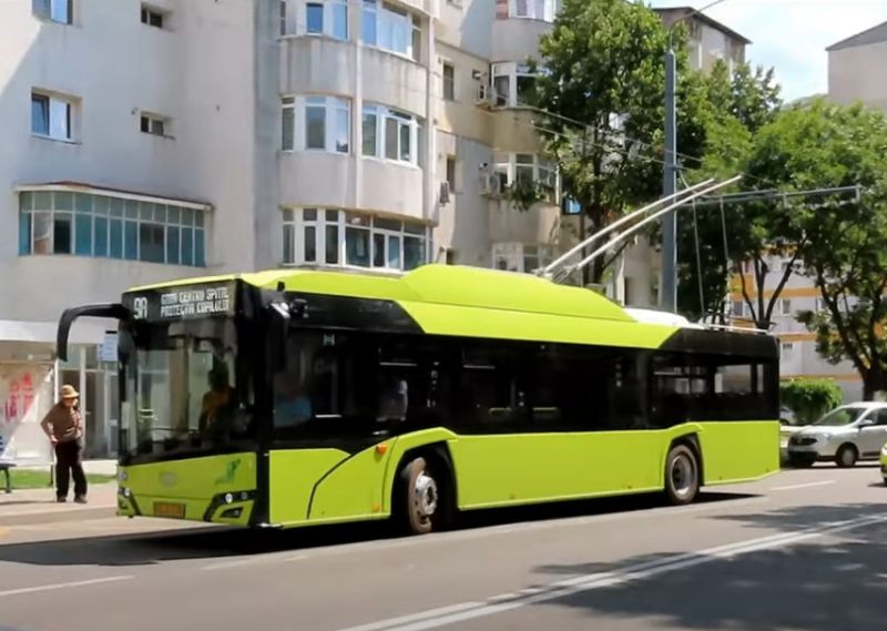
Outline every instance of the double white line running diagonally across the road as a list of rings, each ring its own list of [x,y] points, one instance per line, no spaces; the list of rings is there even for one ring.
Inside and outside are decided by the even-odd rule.
[[[723,559],[732,559],[752,552],[773,550],[786,545],[818,539],[827,535],[885,522],[887,522],[887,516],[865,517],[823,523],[815,528],[795,532],[784,532],[769,537],[737,541],[696,552],[674,554],[666,559],[638,563],[619,571],[584,574],[541,588],[530,588],[530,590],[499,594],[483,602],[462,602],[450,605],[449,608],[432,609],[410,615],[380,620],[358,627],[349,627],[339,631],[426,631],[428,629],[438,629],[440,627],[466,622],[477,618],[503,613],[528,604],[561,599],[579,592],[650,579],[666,572],[683,570]]]

